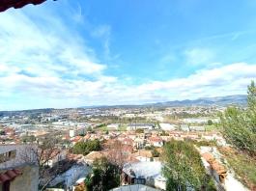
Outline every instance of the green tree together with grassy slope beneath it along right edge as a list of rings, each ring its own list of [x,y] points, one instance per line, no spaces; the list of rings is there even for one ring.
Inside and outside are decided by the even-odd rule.
[[[220,116],[222,133],[234,146],[221,150],[237,177],[253,190],[256,188],[256,87],[248,86],[247,108],[229,107]]]

